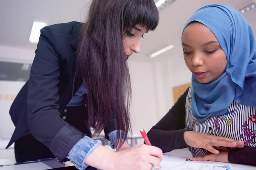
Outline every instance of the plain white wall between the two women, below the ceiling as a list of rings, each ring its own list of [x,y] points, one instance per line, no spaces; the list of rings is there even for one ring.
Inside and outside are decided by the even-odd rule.
[[[191,72],[183,55],[156,62],[130,61],[132,79],[133,133],[148,131],[174,105],[172,88],[191,82]]]

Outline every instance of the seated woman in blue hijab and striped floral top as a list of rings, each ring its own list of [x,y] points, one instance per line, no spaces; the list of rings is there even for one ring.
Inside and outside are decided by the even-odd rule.
[[[235,8],[208,5],[182,34],[192,86],[148,132],[163,152],[189,147],[192,161],[256,165],[256,41]]]

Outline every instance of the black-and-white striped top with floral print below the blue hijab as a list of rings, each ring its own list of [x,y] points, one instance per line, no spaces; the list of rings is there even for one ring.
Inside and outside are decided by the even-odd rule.
[[[223,136],[244,141],[245,147],[256,147],[256,108],[241,105],[235,101],[222,116],[209,117],[203,123],[197,121],[191,111],[191,87],[186,97],[186,128],[199,133]],[[234,148],[231,148],[234,149]],[[201,148],[189,147],[192,156],[208,153]]]

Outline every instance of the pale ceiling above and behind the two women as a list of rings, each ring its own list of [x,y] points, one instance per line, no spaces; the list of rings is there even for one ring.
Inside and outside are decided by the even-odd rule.
[[[177,62],[183,62],[181,31],[186,20],[198,8],[217,3],[239,9],[249,1],[251,0],[176,0],[160,10],[159,26],[154,32],[144,36],[141,41],[141,53],[135,54],[131,59],[154,62],[175,57]],[[82,22],[89,4],[90,0],[0,0],[0,45],[35,49],[36,44],[29,43],[34,21],[43,21],[48,25],[74,20]],[[256,32],[256,9],[245,13],[244,16]],[[149,58],[152,52],[170,44],[174,45],[172,50],[153,59]]]

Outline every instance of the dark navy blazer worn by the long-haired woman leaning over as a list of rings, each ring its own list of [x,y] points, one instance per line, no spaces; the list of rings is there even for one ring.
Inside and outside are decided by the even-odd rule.
[[[63,161],[72,147],[85,135],[86,116],[76,116],[73,125],[66,119],[66,105],[79,89],[82,79],[73,80],[76,68],[76,48],[82,23],[55,24],[41,29],[29,80],[12,103],[10,116],[15,131],[7,145],[22,136],[32,134],[47,146],[56,158]],[[86,112],[86,107],[83,107]],[[81,111],[81,107],[78,107]],[[105,137],[116,130],[116,119],[111,117],[105,127]]]

